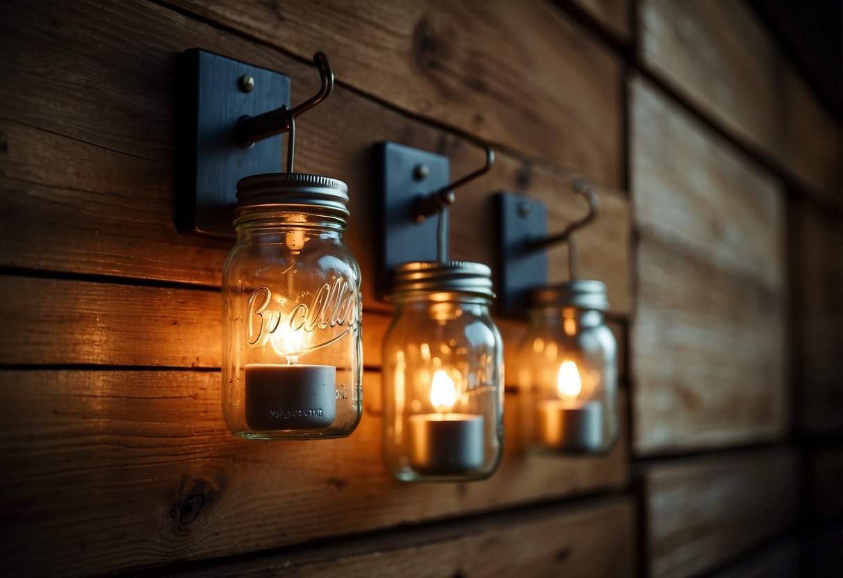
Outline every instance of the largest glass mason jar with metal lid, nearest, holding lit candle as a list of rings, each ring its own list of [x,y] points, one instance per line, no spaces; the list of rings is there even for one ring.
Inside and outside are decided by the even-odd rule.
[[[362,413],[362,303],[342,241],[346,184],[277,173],[237,186],[223,270],[228,428],[258,440],[347,436]]]

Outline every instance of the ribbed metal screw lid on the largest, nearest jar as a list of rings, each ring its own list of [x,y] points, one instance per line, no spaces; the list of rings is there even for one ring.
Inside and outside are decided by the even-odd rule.
[[[348,186],[319,174],[252,174],[237,183],[237,208],[250,206],[317,206],[325,213],[347,218]]]

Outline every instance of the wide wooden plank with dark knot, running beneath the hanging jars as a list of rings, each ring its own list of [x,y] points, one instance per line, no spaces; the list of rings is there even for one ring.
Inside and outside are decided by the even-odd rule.
[[[271,549],[627,479],[625,442],[605,458],[526,454],[508,409],[506,455],[491,479],[402,484],[384,465],[382,424],[368,409],[346,439],[248,442],[223,423],[218,372],[2,378],[0,500],[15,528],[0,558],[7,575],[93,575]],[[367,372],[364,399],[379,387]]]

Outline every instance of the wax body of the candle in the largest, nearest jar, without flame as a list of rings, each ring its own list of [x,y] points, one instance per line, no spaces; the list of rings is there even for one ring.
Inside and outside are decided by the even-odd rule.
[[[336,419],[336,367],[250,363],[245,372],[252,430],[315,430]]]

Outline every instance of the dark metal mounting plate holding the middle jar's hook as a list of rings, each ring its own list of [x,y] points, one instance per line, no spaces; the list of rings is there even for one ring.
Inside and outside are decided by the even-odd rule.
[[[375,292],[380,299],[389,295],[392,270],[408,261],[437,260],[438,215],[418,222],[416,202],[440,187],[448,185],[450,161],[448,157],[405,147],[395,142],[380,142],[376,146],[379,162],[382,233],[379,267],[376,271]],[[428,169],[419,178],[416,167]]]

